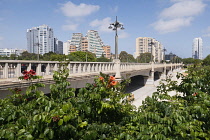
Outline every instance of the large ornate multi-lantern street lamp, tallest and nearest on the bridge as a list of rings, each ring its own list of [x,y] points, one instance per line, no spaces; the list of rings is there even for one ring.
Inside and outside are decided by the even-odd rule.
[[[116,21],[114,23],[111,23],[109,26],[109,29],[112,29],[115,31],[115,59],[118,59],[118,34],[117,34],[117,28],[120,28],[121,30],[124,30],[125,28],[121,23],[117,21],[117,16],[116,16]]]

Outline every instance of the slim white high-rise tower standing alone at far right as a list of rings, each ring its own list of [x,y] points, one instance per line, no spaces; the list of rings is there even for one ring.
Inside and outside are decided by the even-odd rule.
[[[200,37],[193,39],[192,58],[203,58],[203,41]]]

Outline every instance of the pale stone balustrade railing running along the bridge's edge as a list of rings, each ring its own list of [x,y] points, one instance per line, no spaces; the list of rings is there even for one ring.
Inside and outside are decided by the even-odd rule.
[[[115,71],[114,62],[69,62],[67,63],[70,75],[85,74],[95,72]],[[32,60],[0,60],[0,79],[17,78],[22,76],[24,70],[33,69],[37,75],[50,76],[60,68],[61,62],[58,61],[32,61]],[[175,64],[154,64],[158,67],[172,67]],[[120,63],[121,71],[151,69],[149,63]]]

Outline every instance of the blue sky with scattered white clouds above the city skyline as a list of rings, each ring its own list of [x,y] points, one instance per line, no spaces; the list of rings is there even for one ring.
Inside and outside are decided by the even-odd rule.
[[[210,54],[210,0],[0,0],[0,48],[26,49],[26,30],[46,24],[65,42],[72,33],[97,30],[114,53],[115,17],[119,52],[135,52],[137,37],[153,37],[182,58],[192,55],[192,41],[203,39],[203,56]]]

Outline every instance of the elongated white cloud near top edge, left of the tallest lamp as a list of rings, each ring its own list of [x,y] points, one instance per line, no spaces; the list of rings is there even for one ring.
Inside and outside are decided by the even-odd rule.
[[[92,14],[100,9],[98,5],[88,5],[81,3],[80,5],[76,5],[72,2],[67,2],[62,4],[61,11],[67,17],[82,17]]]

